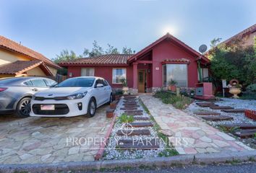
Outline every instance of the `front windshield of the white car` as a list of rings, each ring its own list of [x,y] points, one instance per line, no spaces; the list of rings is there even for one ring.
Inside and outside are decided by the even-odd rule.
[[[95,78],[70,78],[54,87],[90,87],[93,86]]]

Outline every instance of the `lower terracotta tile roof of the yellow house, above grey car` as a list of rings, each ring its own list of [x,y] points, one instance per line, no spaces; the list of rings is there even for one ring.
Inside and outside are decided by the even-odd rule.
[[[22,74],[37,66],[43,66],[43,70],[47,71],[46,75],[52,75],[43,61],[15,61],[14,63],[8,63],[7,65],[0,66],[0,74]]]

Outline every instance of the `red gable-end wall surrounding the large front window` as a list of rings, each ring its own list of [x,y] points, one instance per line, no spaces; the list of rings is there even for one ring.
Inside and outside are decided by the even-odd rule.
[[[195,87],[198,81],[196,58],[169,40],[164,40],[153,48],[153,87],[163,86],[161,62],[166,59],[178,58],[187,58],[191,61],[187,66],[188,87]],[[156,70],[156,68],[159,68],[159,70]]]

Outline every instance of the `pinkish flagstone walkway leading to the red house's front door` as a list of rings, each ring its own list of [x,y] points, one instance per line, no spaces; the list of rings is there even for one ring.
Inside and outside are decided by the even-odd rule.
[[[149,94],[140,95],[142,102],[148,107],[156,123],[163,130],[174,133],[171,142],[179,154],[214,153],[252,150],[244,143],[223,133],[196,117],[166,105],[160,99]]]

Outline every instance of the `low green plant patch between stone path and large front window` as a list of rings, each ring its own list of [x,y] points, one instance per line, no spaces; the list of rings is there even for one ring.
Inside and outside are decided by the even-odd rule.
[[[192,103],[192,99],[185,96],[176,96],[171,92],[156,92],[154,97],[159,98],[165,104],[174,105],[179,110],[184,110],[189,104]]]

